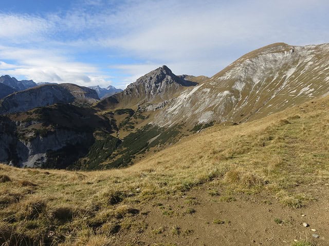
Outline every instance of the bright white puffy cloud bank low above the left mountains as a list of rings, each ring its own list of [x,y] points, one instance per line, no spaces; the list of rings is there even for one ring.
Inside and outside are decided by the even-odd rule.
[[[93,65],[68,61],[61,50],[19,49],[0,46],[0,57],[15,59],[16,65],[0,62],[0,73],[25,76],[35,82],[74,83],[107,87],[111,80]]]

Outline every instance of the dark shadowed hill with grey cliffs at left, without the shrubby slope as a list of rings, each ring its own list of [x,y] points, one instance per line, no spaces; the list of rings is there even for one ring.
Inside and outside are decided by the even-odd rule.
[[[54,105],[0,115],[0,162],[67,168],[88,152],[96,129],[112,132],[108,120],[94,113],[73,105]]]

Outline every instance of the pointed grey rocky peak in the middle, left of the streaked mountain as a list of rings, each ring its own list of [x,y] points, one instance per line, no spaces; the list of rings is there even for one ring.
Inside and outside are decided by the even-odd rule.
[[[124,91],[103,99],[95,107],[98,109],[139,108],[144,104],[172,99],[186,88],[196,85],[196,82],[180,78],[167,66],[162,66],[138,78]]]

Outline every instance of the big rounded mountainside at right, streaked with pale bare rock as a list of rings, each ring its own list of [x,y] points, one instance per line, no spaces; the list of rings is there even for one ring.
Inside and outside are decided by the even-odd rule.
[[[245,122],[326,95],[329,44],[273,44],[237,59],[203,84],[166,102],[154,124]]]

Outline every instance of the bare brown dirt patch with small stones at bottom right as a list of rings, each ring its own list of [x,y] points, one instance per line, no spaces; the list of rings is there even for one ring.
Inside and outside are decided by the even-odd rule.
[[[305,208],[291,209],[261,195],[239,195],[233,201],[220,201],[221,195],[211,196],[203,187],[186,197],[144,207],[148,215],[139,215],[137,219],[148,224],[145,232],[116,238],[135,245],[291,245],[296,239],[326,246],[328,189],[318,189],[316,197],[318,201]],[[305,228],[303,222],[309,227]],[[320,237],[314,238],[312,234]]]

